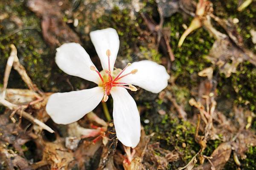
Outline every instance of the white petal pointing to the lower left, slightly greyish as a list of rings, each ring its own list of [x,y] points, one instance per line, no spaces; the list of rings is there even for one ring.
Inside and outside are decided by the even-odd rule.
[[[46,111],[55,123],[70,124],[92,111],[103,95],[102,87],[54,93],[48,99]]]

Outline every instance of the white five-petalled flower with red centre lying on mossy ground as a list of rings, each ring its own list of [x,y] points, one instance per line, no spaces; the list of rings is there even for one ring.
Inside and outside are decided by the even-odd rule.
[[[55,61],[65,73],[98,84],[92,89],[55,93],[49,97],[46,111],[57,124],[70,124],[92,111],[101,101],[113,98],[113,122],[116,136],[127,147],[136,147],[140,141],[140,115],[137,105],[126,89],[136,91],[133,85],[153,93],[163,90],[169,75],[164,66],[153,61],[128,64],[122,71],[114,69],[119,37],[115,29],[90,32],[90,38],[99,55],[104,71],[99,72],[89,55],[78,43],[65,43],[57,49]],[[117,73],[116,73],[117,72]],[[133,84],[133,85],[132,85]]]

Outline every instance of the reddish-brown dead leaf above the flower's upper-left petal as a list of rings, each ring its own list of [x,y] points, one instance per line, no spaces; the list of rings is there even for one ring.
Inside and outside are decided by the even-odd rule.
[[[44,40],[52,47],[61,46],[63,43],[81,43],[79,36],[63,21],[61,6],[67,1],[61,0],[29,0],[28,6],[41,17],[41,27]]]

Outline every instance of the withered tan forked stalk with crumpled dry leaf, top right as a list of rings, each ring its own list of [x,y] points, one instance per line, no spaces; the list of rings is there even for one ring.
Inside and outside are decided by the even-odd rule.
[[[236,26],[229,20],[216,17],[212,13],[212,3],[208,0],[199,0],[195,18],[180,37],[178,46],[182,45],[186,36],[192,31],[203,26],[216,39],[208,58],[214,65],[219,67],[220,72],[224,73],[226,77],[230,77],[232,73],[235,73],[237,66],[243,61],[250,61],[250,63],[256,66],[256,55],[244,49],[242,37],[239,35]],[[211,18],[225,29],[227,35],[219,32],[212,26]],[[230,60],[232,61],[231,63],[229,63]]]

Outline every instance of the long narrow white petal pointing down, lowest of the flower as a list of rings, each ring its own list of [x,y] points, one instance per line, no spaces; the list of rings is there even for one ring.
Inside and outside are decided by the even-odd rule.
[[[140,114],[126,89],[113,87],[113,121],[116,136],[127,147],[136,147],[140,141]]]

